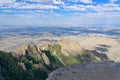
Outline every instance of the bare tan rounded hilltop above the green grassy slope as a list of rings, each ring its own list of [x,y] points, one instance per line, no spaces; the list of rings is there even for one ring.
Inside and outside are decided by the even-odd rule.
[[[61,46],[62,53],[66,56],[83,54],[85,50],[80,43],[75,40],[61,39],[57,44]]]

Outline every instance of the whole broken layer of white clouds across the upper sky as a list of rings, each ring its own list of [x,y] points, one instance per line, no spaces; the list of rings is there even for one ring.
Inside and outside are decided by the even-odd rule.
[[[29,4],[25,1],[31,1],[31,2],[41,2],[38,4]],[[74,0],[76,2],[81,1],[84,3],[92,3],[92,0]],[[50,2],[49,4],[42,4],[42,2]],[[8,4],[10,3],[10,4]],[[22,13],[26,13],[26,14],[35,14],[35,16],[39,16],[39,14],[43,13],[43,14],[47,14],[49,11],[53,10],[53,15],[56,16],[61,16],[61,14],[58,13],[54,13],[54,9],[59,9],[59,10],[63,10],[63,11],[74,11],[76,12],[75,15],[83,15],[84,13],[79,12],[79,11],[83,11],[83,12],[88,12],[88,14],[92,13],[89,11],[95,11],[96,16],[99,15],[101,16],[114,16],[116,15],[115,13],[113,14],[112,12],[120,12],[120,5],[119,4],[115,4],[115,3],[107,3],[107,4],[98,4],[96,6],[92,5],[92,4],[88,4],[88,5],[82,5],[82,4],[73,4],[73,5],[67,5],[66,3],[64,3],[62,0],[24,0],[22,2],[15,2],[15,0],[0,0],[0,4],[6,4],[7,6],[0,6],[0,8],[3,8],[4,10],[2,12],[12,12],[14,10],[9,10],[11,8],[15,8],[15,9],[20,9],[19,12]],[[56,5],[59,4],[59,5]],[[9,9],[6,9],[9,8]],[[62,9],[63,8],[63,9]],[[22,9],[25,9],[24,12],[22,12]],[[28,10],[27,10],[28,9]],[[35,9],[34,11],[30,11],[30,9]],[[47,11],[49,10],[49,11]],[[46,11],[46,12],[44,12]],[[33,13],[30,13],[33,12]],[[100,13],[101,12],[101,13]],[[108,13],[104,13],[104,12],[108,12]],[[17,13],[16,14],[20,14]],[[48,13],[49,14],[49,13]],[[106,15],[107,14],[107,15]],[[14,14],[13,14],[14,15]],[[24,15],[24,14],[23,14]],[[64,15],[64,13],[63,13]],[[69,15],[69,14],[68,14]],[[91,15],[91,14],[90,14]],[[91,16],[95,16],[91,15]],[[120,16],[120,15],[117,15]]]

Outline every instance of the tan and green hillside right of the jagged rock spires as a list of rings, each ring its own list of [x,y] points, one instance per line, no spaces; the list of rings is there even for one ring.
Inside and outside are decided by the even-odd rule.
[[[45,44],[41,49],[50,52],[52,57],[57,60],[57,63],[62,66],[68,66],[74,63],[107,61],[108,58],[103,53],[97,51],[85,50],[77,41],[63,39],[56,44]],[[44,48],[43,48],[44,47]]]

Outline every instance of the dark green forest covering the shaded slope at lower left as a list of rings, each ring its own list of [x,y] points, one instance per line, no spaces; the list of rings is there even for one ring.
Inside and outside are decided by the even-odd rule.
[[[32,64],[27,59],[23,59],[28,71],[24,71],[19,66],[19,61],[12,57],[10,53],[0,51],[0,66],[5,80],[45,80],[48,74],[38,69],[33,69]],[[32,76],[32,75],[33,76]]]

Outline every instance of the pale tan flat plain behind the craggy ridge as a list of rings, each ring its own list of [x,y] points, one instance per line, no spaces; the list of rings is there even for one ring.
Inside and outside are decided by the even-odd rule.
[[[82,34],[76,36],[55,37],[44,35],[37,37],[8,37],[0,40],[0,50],[16,51],[18,48],[28,44],[40,45],[43,43],[56,43],[61,39],[71,39],[79,41],[86,50],[97,50],[100,53],[107,54],[110,60],[120,61],[120,36],[110,36],[105,34]]]

